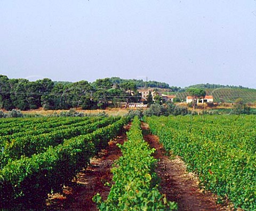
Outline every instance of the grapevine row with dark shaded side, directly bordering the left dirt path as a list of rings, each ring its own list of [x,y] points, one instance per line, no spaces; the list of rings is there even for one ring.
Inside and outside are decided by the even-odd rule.
[[[0,201],[22,199],[33,201],[58,191],[85,167],[90,158],[108,145],[123,128],[126,119],[119,119],[94,132],[63,141],[45,152],[10,161],[0,170]]]

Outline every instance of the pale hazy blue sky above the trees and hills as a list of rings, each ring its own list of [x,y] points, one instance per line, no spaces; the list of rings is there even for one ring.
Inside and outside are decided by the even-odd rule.
[[[1,0],[0,74],[256,88],[256,1]]]

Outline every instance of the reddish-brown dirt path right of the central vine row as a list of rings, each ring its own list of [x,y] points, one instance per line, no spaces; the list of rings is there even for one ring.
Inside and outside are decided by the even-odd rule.
[[[147,123],[142,123],[144,139],[156,149],[154,157],[159,159],[156,172],[161,178],[161,192],[167,200],[175,201],[179,211],[223,211],[233,210],[230,205],[216,204],[216,197],[199,189],[198,180],[186,171],[186,165],[179,157],[167,156],[159,138],[150,134]]]

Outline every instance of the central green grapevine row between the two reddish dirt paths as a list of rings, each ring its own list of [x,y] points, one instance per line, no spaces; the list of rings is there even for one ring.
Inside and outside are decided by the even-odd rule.
[[[99,193],[94,196],[99,210],[174,210],[177,205],[166,201],[158,191],[158,178],[154,171],[156,159],[143,140],[140,121],[135,116],[128,140],[119,145],[123,156],[118,159],[112,171],[115,184],[106,201]]]

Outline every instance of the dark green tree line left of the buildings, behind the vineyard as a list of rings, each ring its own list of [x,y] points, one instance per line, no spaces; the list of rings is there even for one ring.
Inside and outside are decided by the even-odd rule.
[[[115,80],[114,80],[115,79]],[[92,83],[54,82],[51,79],[29,81],[9,79],[0,75],[0,108],[28,109],[83,109],[117,107],[121,102],[137,103],[141,99],[138,83],[118,78],[98,79]]]

